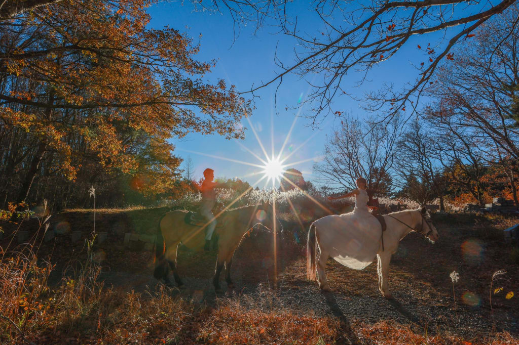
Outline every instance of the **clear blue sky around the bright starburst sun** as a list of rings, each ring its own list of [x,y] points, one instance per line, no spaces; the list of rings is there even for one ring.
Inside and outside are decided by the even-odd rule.
[[[302,7],[298,9],[298,14],[302,15],[305,20],[305,28],[308,29],[306,31],[313,33],[321,30],[323,24],[318,18],[312,17],[305,6],[306,2],[299,4],[302,4]],[[266,81],[275,76],[275,71],[278,70],[274,64],[276,45],[278,45],[278,56],[284,63],[290,63],[294,59],[292,49],[296,41],[288,36],[276,34],[276,28],[267,27],[253,35],[253,25],[245,26],[242,27],[239,37],[234,40],[234,23],[227,13],[194,12],[192,5],[188,2],[184,6],[177,2],[161,2],[150,8],[148,12],[152,16],[149,26],[158,28],[169,25],[187,32],[195,42],[199,41],[200,52],[196,56],[198,60],[217,59],[216,67],[207,76],[210,81],[223,78],[228,84],[235,84],[238,90],[248,90],[252,84],[260,84],[262,80]],[[377,90],[384,81],[402,85],[406,80],[414,80],[417,73],[409,66],[409,61],[412,60],[416,63],[418,60],[425,60],[423,53],[416,49],[418,39],[411,39],[409,44],[392,59],[372,69],[370,81],[364,83],[362,88],[356,88],[358,78],[354,74],[343,85],[362,96],[366,90]],[[419,43],[424,45],[423,39],[421,40]],[[311,79],[312,76],[309,78]],[[279,153],[296,118],[297,110],[294,111],[290,108],[285,110],[285,106],[296,105],[308,91],[309,87],[305,80],[298,80],[294,76],[286,78],[278,92],[278,114],[275,113],[274,107],[275,87],[268,87],[257,93],[261,99],[255,99],[256,109],[250,121],[268,155],[272,153],[272,144],[275,153]],[[334,111],[345,111],[359,118],[369,115],[360,108],[358,101],[347,96],[334,99],[333,109]],[[248,127],[249,130],[245,132],[246,138],[240,140],[240,143],[236,140],[226,140],[218,135],[190,134],[183,139],[173,139],[176,146],[174,153],[183,159],[191,157],[196,177],[201,177],[202,171],[211,167],[215,170],[216,177],[237,177],[248,181],[253,186],[258,185],[262,188],[265,186],[265,180],[255,183],[262,175],[252,176],[260,168],[239,163],[261,164],[254,154],[265,159],[258,140],[250,130],[251,126],[247,119],[242,121],[242,125]],[[333,128],[339,125],[340,118],[335,119],[329,116],[319,129],[312,129],[308,119],[297,118],[292,135],[282,152],[282,156],[292,154],[285,162],[289,164],[287,168],[296,168],[303,172],[305,180],[315,182],[317,176],[312,174],[312,166],[319,160],[319,156],[323,152],[326,135],[330,135]],[[202,155],[200,154],[202,152],[233,161]],[[269,185],[271,186],[271,183]]]

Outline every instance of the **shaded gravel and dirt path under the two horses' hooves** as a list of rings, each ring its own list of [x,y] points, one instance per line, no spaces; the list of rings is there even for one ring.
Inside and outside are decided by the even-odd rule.
[[[485,337],[506,330],[519,335],[519,299],[493,297],[493,313],[488,303],[489,284],[498,269],[508,270],[509,280],[494,285],[503,291],[519,293],[517,265],[506,264],[500,247],[487,243],[482,252],[463,248],[476,241],[470,233],[449,229],[435,245],[416,234],[404,238],[390,268],[390,289],[394,300],[386,300],[378,292],[376,264],[361,271],[346,268],[333,260],[327,263],[327,276],[333,293],[322,293],[317,282],[306,280],[306,258],[291,248],[290,254],[278,253],[278,276],[273,280],[273,255],[244,240],[233,261],[236,289],[216,295],[211,278],[215,253],[181,250],[179,270],[185,289],[175,291],[186,299],[212,305],[216,298],[241,298],[243,303],[265,310],[283,308],[297,314],[334,315],[344,327],[357,323],[393,321],[411,326],[415,332],[450,333],[466,337]],[[256,247],[256,248],[255,248]],[[301,248],[301,247],[297,247]],[[476,248],[477,249],[477,248]],[[477,255],[476,255],[477,254]],[[146,267],[134,271],[112,269],[103,272],[106,284],[122,289],[151,290],[157,285],[152,276],[153,256],[138,254]],[[476,257],[477,256],[477,257]],[[508,266],[508,267],[507,267]],[[456,270],[460,281],[455,284],[457,306],[453,303],[453,287],[449,274]],[[225,289],[226,283],[221,281]],[[353,341],[354,342],[354,341]]]

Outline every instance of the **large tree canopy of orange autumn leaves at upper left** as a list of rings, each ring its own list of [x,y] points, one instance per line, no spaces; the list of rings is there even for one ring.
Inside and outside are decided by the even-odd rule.
[[[146,27],[154,3],[63,1],[3,24],[0,147],[11,164],[0,169],[19,170],[20,199],[45,160],[48,174],[71,181],[99,164],[146,176],[148,193],[163,192],[181,162],[169,138],[243,137],[235,123],[251,114],[250,102],[222,79],[201,79],[215,61],[195,60],[200,47],[185,33]]]

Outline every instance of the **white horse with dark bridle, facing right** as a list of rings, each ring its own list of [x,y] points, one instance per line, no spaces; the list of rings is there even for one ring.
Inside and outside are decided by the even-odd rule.
[[[326,219],[327,217],[331,218]],[[329,256],[350,268],[362,269],[371,264],[376,255],[378,290],[384,297],[392,298],[388,289],[389,262],[391,261],[391,255],[397,252],[400,240],[412,231],[424,235],[433,243],[438,240],[439,235],[434,225],[432,225],[431,215],[425,207],[421,210],[393,212],[385,214],[383,217],[387,225],[384,232],[381,231],[380,223],[375,217],[368,220],[373,223],[373,232],[377,234],[377,238],[375,239],[373,235],[366,237],[362,234],[363,238],[367,238],[364,242],[371,241],[371,243],[365,243],[365,245],[361,243],[362,240],[348,240],[351,235],[346,235],[345,237],[345,234],[348,234],[348,232],[344,228],[322,226],[322,224],[333,224],[330,221],[340,219],[338,215],[327,215],[313,222],[310,225],[306,246],[308,279],[317,279],[323,291],[331,291],[324,272],[326,260]],[[378,228],[376,227],[377,224]],[[350,232],[350,234],[356,233]],[[373,234],[371,230],[370,234]],[[378,243],[375,242],[377,240]],[[356,243],[356,245],[352,246],[349,244],[352,242]]]

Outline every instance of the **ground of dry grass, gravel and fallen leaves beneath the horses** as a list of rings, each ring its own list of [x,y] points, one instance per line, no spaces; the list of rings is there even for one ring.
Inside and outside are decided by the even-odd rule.
[[[395,299],[386,300],[375,264],[356,271],[330,259],[333,293],[306,280],[306,230],[299,226],[278,234],[276,250],[272,233],[246,235],[233,261],[234,290],[214,292],[215,252],[185,248],[178,261],[185,288],[164,287],[153,278],[153,253],[126,249],[122,238],[154,234],[165,210],[98,210],[95,230],[108,233],[100,245],[89,241],[91,210],[52,215],[60,234],[39,245],[40,234],[32,250],[15,239],[0,268],[0,342],[519,343],[519,255],[502,241],[502,229],[517,219],[433,215],[440,240],[433,245],[415,233],[402,240],[390,266]],[[20,224],[0,225],[5,250]],[[38,223],[22,227],[34,233]],[[67,232],[78,229],[84,238],[72,243]],[[492,282],[501,269],[506,274]],[[460,277],[455,299],[453,271]]]

